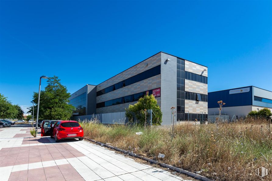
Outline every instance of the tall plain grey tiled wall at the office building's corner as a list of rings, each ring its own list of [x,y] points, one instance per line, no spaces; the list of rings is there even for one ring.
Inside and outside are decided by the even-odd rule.
[[[177,57],[161,53],[162,125],[171,124],[172,106],[177,107]]]

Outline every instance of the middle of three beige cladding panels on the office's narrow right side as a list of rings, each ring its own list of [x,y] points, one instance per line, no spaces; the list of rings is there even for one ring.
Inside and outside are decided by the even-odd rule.
[[[200,94],[208,94],[208,84],[185,79],[185,91]]]

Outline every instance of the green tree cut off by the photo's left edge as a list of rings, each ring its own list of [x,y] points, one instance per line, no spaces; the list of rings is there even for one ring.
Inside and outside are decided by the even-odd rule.
[[[5,97],[3,94],[0,93],[0,118],[16,118],[18,110],[16,110],[15,106]]]

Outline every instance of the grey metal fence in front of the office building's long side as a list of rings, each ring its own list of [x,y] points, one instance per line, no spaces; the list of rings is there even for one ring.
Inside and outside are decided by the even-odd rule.
[[[152,125],[152,114],[154,115],[152,110],[146,111],[146,116],[144,111],[139,111],[137,113],[130,113],[131,119],[126,116],[126,112],[117,112],[117,113],[102,113],[102,114],[93,114],[93,115],[85,115],[85,116],[74,116],[71,117],[71,120],[85,120],[85,121],[93,121],[97,120],[102,124],[139,124],[141,121],[145,121],[147,125]]]

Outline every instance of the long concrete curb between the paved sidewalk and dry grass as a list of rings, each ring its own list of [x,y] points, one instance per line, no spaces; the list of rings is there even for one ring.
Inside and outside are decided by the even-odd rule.
[[[125,151],[125,150],[122,150],[120,148],[117,148],[117,147],[114,147],[114,146],[111,146],[111,145],[108,145],[108,144],[104,144],[104,143],[101,143],[99,141],[95,141],[95,140],[92,140],[90,138],[87,138],[87,137],[83,137],[84,139],[86,140],[89,140],[89,141],[92,141],[94,143],[97,143],[97,144],[100,144],[101,146],[105,146],[105,147],[108,147],[108,148],[111,148],[111,149],[115,149],[117,151],[121,151],[122,153],[125,153],[125,154],[128,154],[130,156],[134,156],[134,157],[137,157],[137,158],[141,158],[147,162],[150,162],[150,163],[154,163],[154,164],[158,164],[158,165],[161,165],[162,167],[166,167],[166,168],[169,168],[171,170],[175,170],[176,172],[179,172],[179,173],[183,173],[183,174],[186,174],[186,175],[189,175],[195,179],[199,179],[199,180],[203,180],[203,181],[214,181],[212,179],[209,179],[207,177],[204,177],[204,176],[201,176],[199,174],[196,174],[196,173],[193,173],[193,172],[189,172],[189,171],[186,171],[186,170],[183,170],[183,169],[180,169],[178,167],[174,167],[172,165],[168,165],[168,164],[165,164],[165,163],[161,163],[161,162],[158,162],[156,160],[153,160],[153,159],[149,159],[149,158],[146,158],[144,156],[140,156],[140,155],[137,155],[136,153],[133,153],[133,152],[130,152],[130,151]]]

